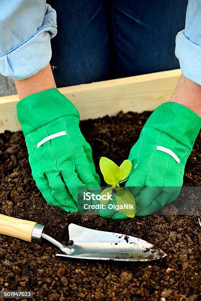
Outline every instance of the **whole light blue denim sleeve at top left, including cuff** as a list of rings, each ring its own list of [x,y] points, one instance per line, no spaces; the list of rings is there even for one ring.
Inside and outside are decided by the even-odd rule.
[[[46,0],[0,0],[0,74],[22,80],[51,59],[56,11]]]

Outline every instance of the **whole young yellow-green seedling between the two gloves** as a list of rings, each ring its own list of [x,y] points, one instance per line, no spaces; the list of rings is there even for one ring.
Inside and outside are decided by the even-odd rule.
[[[126,189],[119,187],[119,182],[126,179],[131,171],[132,163],[129,160],[124,160],[120,166],[117,166],[112,160],[101,157],[100,170],[106,183],[111,185],[104,189],[101,195],[107,193],[113,194],[116,198],[119,212],[126,214],[128,217],[134,217],[136,206],[133,195]],[[109,200],[100,200],[101,204],[107,204]]]

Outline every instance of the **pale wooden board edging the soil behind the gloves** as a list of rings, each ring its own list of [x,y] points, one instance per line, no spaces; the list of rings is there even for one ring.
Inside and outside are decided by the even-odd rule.
[[[119,111],[141,113],[168,101],[181,75],[180,69],[60,88],[80,112],[81,120],[113,116]],[[20,130],[17,95],[0,97],[0,133]]]

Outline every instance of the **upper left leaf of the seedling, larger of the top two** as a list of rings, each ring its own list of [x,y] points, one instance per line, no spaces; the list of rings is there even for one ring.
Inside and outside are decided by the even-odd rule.
[[[115,185],[121,178],[121,170],[112,160],[101,157],[100,158],[100,170],[103,174],[103,178],[109,185]]]

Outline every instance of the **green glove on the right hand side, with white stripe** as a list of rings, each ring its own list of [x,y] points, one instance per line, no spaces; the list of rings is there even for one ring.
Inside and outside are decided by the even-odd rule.
[[[174,102],[160,105],[146,121],[130,151],[132,171],[125,186],[135,197],[137,215],[158,211],[179,195],[200,129],[201,118]],[[109,213],[113,219],[126,218],[120,212]]]

